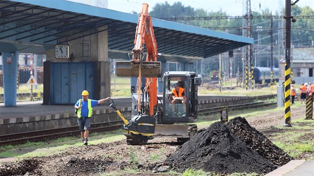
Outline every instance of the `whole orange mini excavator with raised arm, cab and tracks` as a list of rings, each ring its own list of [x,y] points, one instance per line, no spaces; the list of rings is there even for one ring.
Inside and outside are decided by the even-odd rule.
[[[142,12],[136,28],[134,48],[131,61],[117,62],[117,76],[138,77],[137,86],[132,86],[132,118],[126,120],[119,110],[113,107],[123,119],[124,135],[127,143],[141,145],[157,136],[176,137],[184,142],[197,132],[196,125],[186,123],[197,119],[197,86],[200,78],[194,72],[165,72],[163,74],[163,92],[157,93],[157,77],[161,77],[161,63],[157,57],[157,42],[152,25],[152,17],[148,13],[149,5],[143,3]],[[146,44],[146,60],[144,44]],[[146,85],[142,88],[142,77],[146,78]],[[176,83],[184,89],[185,102],[182,97],[176,97],[177,103],[171,103],[172,85]]]

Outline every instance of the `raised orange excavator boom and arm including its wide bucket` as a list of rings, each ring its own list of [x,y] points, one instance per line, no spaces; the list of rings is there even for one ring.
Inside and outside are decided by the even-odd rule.
[[[138,77],[138,111],[141,112],[141,92],[149,94],[149,111],[146,115],[154,116],[154,108],[157,106],[157,78],[161,76],[161,63],[157,62],[157,42],[154,34],[152,17],[148,13],[149,5],[143,3],[142,12],[136,28],[132,60],[117,62],[117,75],[124,77]],[[144,44],[146,44],[147,57],[144,57]],[[146,77],[146,86],[141,90],[142,77]],[[145,108],[148,109],[148,108]]]

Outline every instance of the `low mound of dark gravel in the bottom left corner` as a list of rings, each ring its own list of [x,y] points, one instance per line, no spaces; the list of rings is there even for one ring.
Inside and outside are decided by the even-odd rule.
[[[23,176],[26,173],[37,175],[38,173],[35,170],[40,164],[41,161],[35,158],[21,160],[14,164],[7,163],[0,166],[0,176]],[[41,174],[39,173],[39,175]]]

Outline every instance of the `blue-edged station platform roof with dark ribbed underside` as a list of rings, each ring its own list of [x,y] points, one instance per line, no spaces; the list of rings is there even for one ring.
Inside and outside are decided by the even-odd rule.
[[[0,50],[44,54],[60,41],[107,30],[109,57],[127,59],[137,22],[135,14],[67,0],[0,0]],[[152,22],[160,61],[189,62],[253,44],[252,38],[156,18]]]

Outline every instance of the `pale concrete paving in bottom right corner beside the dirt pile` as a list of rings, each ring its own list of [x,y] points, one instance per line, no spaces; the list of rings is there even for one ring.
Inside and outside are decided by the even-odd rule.
[[[292,160],[265,176],[314,176],[314,160]]]

